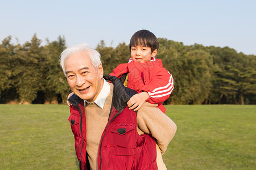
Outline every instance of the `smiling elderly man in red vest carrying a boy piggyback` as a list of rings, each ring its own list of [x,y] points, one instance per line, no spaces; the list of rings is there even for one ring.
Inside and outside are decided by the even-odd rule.
[[[69,122],[80,169],[158,169],[156,143],[163,154],[174,122],[147,102],[138,114],[129,110],[126,103],[137,92],[104,76],[100,54],[88,44],[65,49],[60,65],[74,93]]]

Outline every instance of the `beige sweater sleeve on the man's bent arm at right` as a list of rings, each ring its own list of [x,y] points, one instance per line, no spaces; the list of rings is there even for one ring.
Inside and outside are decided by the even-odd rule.
[[[156,139],[162,154],[167,150],[176,133],[175,123],[156,104],[144,102],[137,114],[138,128]]]

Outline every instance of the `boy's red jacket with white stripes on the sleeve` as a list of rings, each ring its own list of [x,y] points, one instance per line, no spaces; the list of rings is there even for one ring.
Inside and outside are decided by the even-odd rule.
[[[146,63],[134,62],[118,65],[112,76],[121,78],[128,76],[127,87],[139,93],[146,91],[149,95],[148,101],[151,104],[158,104],[159,109],[165,113],[162,102],[167,100],[174,89],[174,79],[168,70],[164,69],[161,59],[152,58]]]

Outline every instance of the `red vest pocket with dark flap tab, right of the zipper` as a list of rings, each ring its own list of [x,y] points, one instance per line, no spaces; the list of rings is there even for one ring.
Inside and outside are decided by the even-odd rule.
[[[135,130],[136,126],[133,123],[117,123],[112,126],[112,155],[135,154]]]

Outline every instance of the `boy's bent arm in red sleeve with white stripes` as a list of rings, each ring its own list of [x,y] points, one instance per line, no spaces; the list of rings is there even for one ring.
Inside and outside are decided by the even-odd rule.
[[[146,91],[149,95],[148,101],[152,104],[162,103],[167,100],[174,89],[174,79],[166,69],[162,68],[154,75],[151,75],[150,82],[145,82],[141,91]]]

